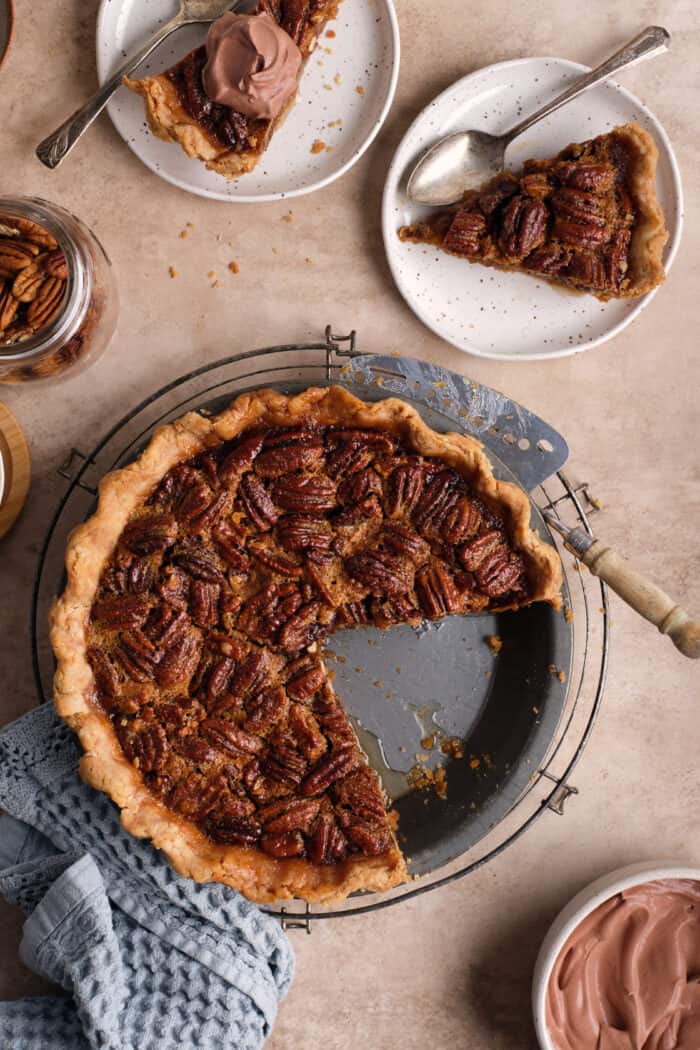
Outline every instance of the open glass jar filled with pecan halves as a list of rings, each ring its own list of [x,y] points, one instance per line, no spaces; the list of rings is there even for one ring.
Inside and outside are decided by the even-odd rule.
[[[108,346],[118,313],[111,262],[84,223],[47,201],[0,197],[0,383],[52,379],[91,363]]]

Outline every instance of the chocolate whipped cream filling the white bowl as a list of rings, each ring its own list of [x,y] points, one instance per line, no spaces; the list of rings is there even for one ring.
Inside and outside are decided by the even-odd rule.
[[[700,882],[617,894],[561,949],[547,989],[556,1050],[700,1050]]]

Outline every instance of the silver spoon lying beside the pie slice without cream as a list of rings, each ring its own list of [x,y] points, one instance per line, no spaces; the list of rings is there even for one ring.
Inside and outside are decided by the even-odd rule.
[[[503,171],[506,149],[523,131],[555,109],[571,102],[589,87],[601,84],[614,72],[651,59],[669,49],[671,35],[660,25],[650,25],[616,51],[602,65],[577,80],[552,102],[527,117],[505,134],[460,131],[442,139],[418,162],[408,178],[407,193],[418,204],[447,205],[461,201],[465,191],[476,189]]]

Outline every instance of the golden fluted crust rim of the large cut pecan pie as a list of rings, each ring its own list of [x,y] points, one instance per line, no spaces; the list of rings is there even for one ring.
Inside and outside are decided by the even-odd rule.
[[[50,612],[58,664],[57,710],[80,737],[85,752],[80,763],[83,779],[121,807],[128,832],[150,838],[181,875],[198,882],[226,883],[258,903],[292,897],[333,903],[360,889],[387,890],[408,879],[405,861],[396,840],[393,848],[379,857],[349,857],[336,865],[276,859],[246,846],[211,842],[194,824],[151,795],[124,755],[109,718],[94,701],[86,631],[103,568],[129,516],[172,466],[251,427],[300,422],[386,430],[417,453],[443,459],[465,477],[487,505],[503,514],[511,543],[526,565],[528,603],[560,605],[560,562],[554,549],[530,529],[527,495],[493,477],[480,442],[463,435],[437,434],[413,408],[396,398],[368,404],[337,386],[314,387],[291,398],[269,390],[245,394],[218,417],[207,419],[190,413],[161,427],[134,463],[103,478],[97,512],[70,536],[67,585]]]

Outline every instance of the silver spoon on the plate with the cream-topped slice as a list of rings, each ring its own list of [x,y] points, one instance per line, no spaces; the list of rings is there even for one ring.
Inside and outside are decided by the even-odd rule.
[[[40,142],[37,146],[37,156],[47,168],[58,168],[59,164],[68,155],[76,143],[90,127],[92,122],[100,116],[116,88],[122,83],[122,78],[141,65],[148,56],[155,50],[158,44],[184,25],[196,25],[199,22],[213,22],[227,10],[235,10],[243,5],[246,0],[181,0],[179,10],[169,22],[150,37],[149,40],[131,58],[127,59],[124,65],[112,74],[99,91],[88,99],[84,106],[65,121],[52,134]]]

